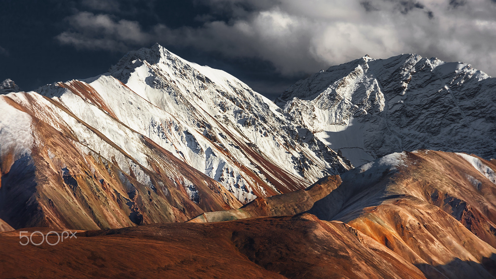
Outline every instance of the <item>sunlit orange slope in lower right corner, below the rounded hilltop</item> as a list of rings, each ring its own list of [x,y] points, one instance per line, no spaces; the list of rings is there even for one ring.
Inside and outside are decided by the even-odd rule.
[[[366,208],[349,225],[422,270],[428,278],[493,278],[496,249],[443,210],[413,198]]]

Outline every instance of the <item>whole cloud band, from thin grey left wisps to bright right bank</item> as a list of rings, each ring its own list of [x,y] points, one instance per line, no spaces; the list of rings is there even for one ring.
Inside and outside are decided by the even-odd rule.
[[[82,12],[58,36],[84,48],[125,49],[159,42],[270,61],[283,74],[314,72],[369,54],[402,53],[471,63],[496,75],[493,0],[208,0],[229,20],[201,27],[156,25]]]

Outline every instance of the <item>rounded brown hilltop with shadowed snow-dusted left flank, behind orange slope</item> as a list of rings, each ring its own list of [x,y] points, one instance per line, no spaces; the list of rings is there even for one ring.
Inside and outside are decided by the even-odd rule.
[[[310,212],[321,219],[349,222],[367,208],[407,199],[442,209],[496,247],[493,162],[432,150],[394,153],[342,175],[338,191],[318,201]]]

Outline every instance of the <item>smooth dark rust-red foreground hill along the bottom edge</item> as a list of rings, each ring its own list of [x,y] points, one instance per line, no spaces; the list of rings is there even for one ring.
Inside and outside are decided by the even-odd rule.
[[[359,231],[311,214],[88,231],[55,246],[18,241],[17,231],[0,233],[2,278],[425,279]]]

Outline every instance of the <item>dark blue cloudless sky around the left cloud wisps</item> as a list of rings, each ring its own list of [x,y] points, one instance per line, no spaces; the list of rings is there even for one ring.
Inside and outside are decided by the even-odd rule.
[[[222,13],[212,11],[211,6],[191,0],[121,0],[115,9],[92,8],[91,3],[88,5],[84,1],[3,0],[2,7],[5,10],[0,17],[0,81],[10,78],[25,91],[47,83],[104,73],[128,50],[153,45],[152,41],[147,41],[108,50],[62,44],[56,37],[70,30],[67,17],[78,12],[104,13],[116,20],[137,21],[144,31],[157,24],[195,28],[203,24],[197,16],[205,14],[227,20]],[[303,76],[282,76],[270,62],[261,59],[226,58],[220,53],[202,52],[198,48],[159,43],[188,61],[228,71],[271,98]]]

